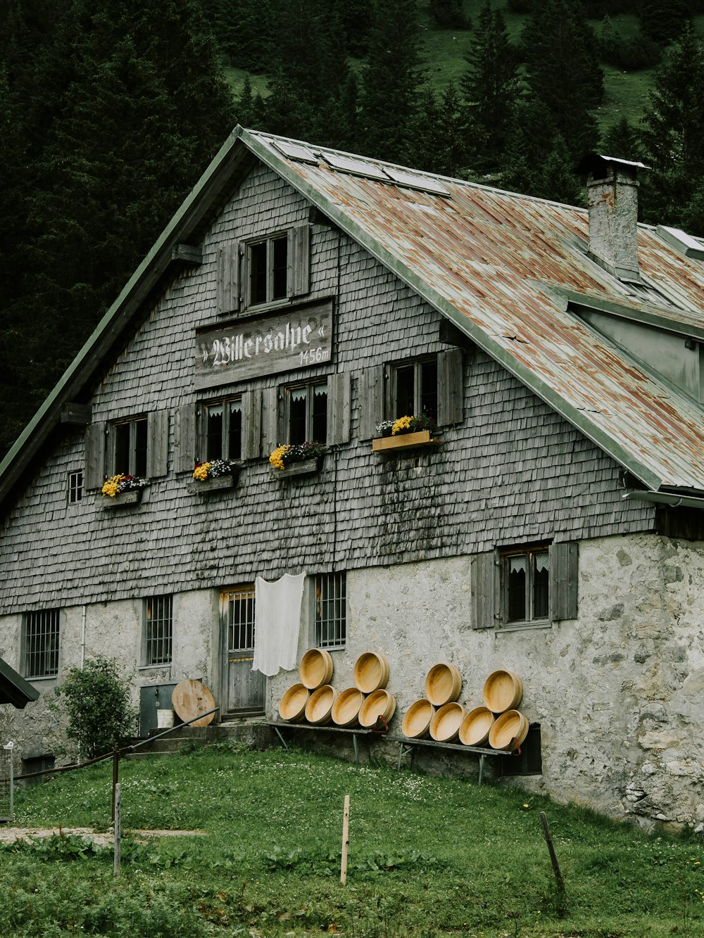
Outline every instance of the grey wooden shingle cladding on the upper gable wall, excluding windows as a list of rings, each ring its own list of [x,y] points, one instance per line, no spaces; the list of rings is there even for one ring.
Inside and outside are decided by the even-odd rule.
[[[138,507],[102,511],[96,492],[68,506],[84,437],[67,436],[0,528],[1,613],[652,528],[651,507],[621,502],[619,466],[481,352],[465,352],[465,422],[444,429],[442,446],[373,454],[360,442],[362,372],[450,346],[436,310],[321,225],[312,228],[311,296],[336,297],[332,363],[196,395],[193,330],[216,321],[219,249],[303,224],[308,210],[268,170],[249,176],[208,232],[203,265],[176,273],[93,396],[95,423],[168,411],[166,475]],[[351,377],[351,438],[318,476],[283,484],[259,459],[231,490],[189,492],[176,448],[185,404],[330,371]]]

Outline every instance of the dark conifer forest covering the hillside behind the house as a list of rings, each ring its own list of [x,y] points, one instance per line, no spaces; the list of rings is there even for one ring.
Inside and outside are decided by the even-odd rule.
[[[456,83],[431,81],[421,8],[462,43]],[[704,0],[7,0],[0,455],[237,122],[572,204],[574,166],[601,148],[651,167],[644,220],[704,235],[702,12]],[[522,15],[517,37],[508,14]],[[635,29],[620,31],[621,14]],[[642,120],[600,135],[605,64],[655,78]],[[247,77],[233,97],[223,66],[264,76],[266,93]]]

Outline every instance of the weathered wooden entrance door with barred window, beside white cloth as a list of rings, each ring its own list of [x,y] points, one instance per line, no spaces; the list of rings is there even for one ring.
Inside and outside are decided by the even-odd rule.
[[[239,586],[221,596],[224,712],[263,713],[266,677],[252,670],[254,587]]]

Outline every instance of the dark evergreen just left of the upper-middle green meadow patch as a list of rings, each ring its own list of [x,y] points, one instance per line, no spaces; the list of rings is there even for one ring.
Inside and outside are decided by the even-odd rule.
[[[375,0],[360,83],[360,143],[369,156],[412,161],[420,44],[416,0]]]

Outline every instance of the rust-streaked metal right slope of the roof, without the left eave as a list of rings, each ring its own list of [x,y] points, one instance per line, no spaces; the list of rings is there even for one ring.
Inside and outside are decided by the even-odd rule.
[[[467,336],[651,489],[704,490],[702,407],[597,332],[570,303],[617,310],[704,340],[704,266],[638,226],[644,301],[587,256],[586,209],[406,170],[381,181],[366,158],[286,157],[268,134],[244,142]],[[345,155],[349,157],[349,155]],[[334,160],[333,160],[334,161]],[[339,160],[337,161],[339,162]],[[364,164],[374,169],[366,176]],[[397,170],[400,167],[396,168]],[[447,195],[423,191],[423,179]]]

